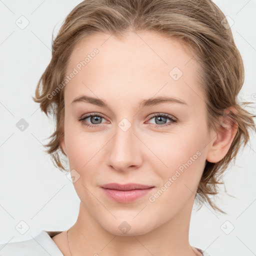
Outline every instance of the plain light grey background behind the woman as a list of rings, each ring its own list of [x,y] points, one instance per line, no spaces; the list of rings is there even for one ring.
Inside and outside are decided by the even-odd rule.
[[[31,96],[50,61],[53,28],[55,36],[79,2],[0,0],[0,243],[30,239],[42,229],[66,230],[78,214],[79,198],[69,174],[55,168],[43,152],[42,143],[53,131],[53,120]],[[256,1],[214,2],[234,22],[228,19],[245,66],[239,98],[255,102]],[[21,29],[26,20],[29,24]],[[16,127],[21,118],[28,123],[23,131]],[[256,139],[252,135],[224,178],[227,192],[235,198],[223,194],[220,187],[221,200],[216,200],[228,214],[216,214],[208,205],[192,211],[190,244],[211,256],[256,254]]]

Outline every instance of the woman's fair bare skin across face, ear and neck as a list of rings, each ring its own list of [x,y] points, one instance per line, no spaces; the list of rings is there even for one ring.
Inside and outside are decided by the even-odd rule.
[[[207,129],[205,96],[196,72],[199,66],[180,42],[153,32],[130,31],[123,40],[109,36],[97,33],[77,44],[66,72],[72,72],[94,48],[99,50],[66,84],[64,92],[61,147],[70,170],[80,175],[73,182],[81,202],[77,221],[68,231],[71,253],[200,255],[188,241],[195,192],[205,160],[216,162],[224,157],[236,128],[227,120],[229,132],[221,127],[217,132]],[[169,75],[174,66],[183,73],[178,80]],[[88,102],[71,104],[82,94],[104,100],[109,109]],[[139,107],[141,100],[158,96],[172,96],[186,104],[163,102]],[[87,127],[78,121],[94,112],[103,115],[101,123],[95,124],[90,117],[86,121],[98,126]],[[166,113],[178,121],[167,118],[160,122],[157,115],[148,118],[154,113]],[[123,118],[131,125],[126,131],[118,126]],[[167,123],[170,125],[154,126]],[[197,151],[200,156],[150,202],[148,197]],[[155,187],[133,202],[119,203],[100,188],[110,182]],[[123,221],[130,226],[127,233],[118,228]],[[64,255],[70,255],[66,231],[52,239]]]

